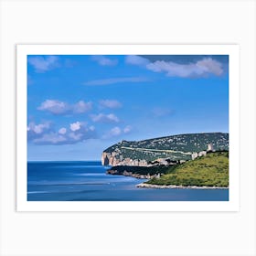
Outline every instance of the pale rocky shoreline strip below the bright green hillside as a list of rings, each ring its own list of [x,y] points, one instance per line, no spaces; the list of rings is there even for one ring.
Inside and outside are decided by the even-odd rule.
[[[155,185],[155,184],[145,184],[145,183],[140,183],[136,185],[136,187],[142,187],[142,188],[158,188],[158,189],[163,189],[163,188],[181,188],[181,189],[229,189],[229,187],[207,187],[207,186],[202,186],[202,187],[197,187],[197,186],[180,186],[180,185]]]

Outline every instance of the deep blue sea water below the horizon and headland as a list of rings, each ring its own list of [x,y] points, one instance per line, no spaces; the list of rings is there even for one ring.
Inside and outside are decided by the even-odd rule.
[[[29,162],[29,201],[227,201],[229,189],[135,187],[145,179],[106,175],[101,162]]]

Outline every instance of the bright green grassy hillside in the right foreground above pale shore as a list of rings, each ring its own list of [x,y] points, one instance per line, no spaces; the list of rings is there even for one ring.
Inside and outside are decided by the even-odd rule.
[[[210,153],[173,165],[160,178],[145,182],[152,185],[229,187],[229,152]]]

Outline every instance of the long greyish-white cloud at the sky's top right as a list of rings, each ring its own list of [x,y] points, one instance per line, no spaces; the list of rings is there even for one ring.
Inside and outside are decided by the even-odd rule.
[[[211,58],[198,60],[196,63],[177,64],[175,62],[166,62],[157,60],[154,63],[146,65],[146,69],[154,72],[165,72],[168,77],[205,77],[210,74],[220,76],[223,73],[222,64]]]

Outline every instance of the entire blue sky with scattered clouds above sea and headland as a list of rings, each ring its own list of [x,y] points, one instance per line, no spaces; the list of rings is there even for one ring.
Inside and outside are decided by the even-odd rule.
[[[205,132],[229,132],[229,56],[27,56],[29,161]]]

